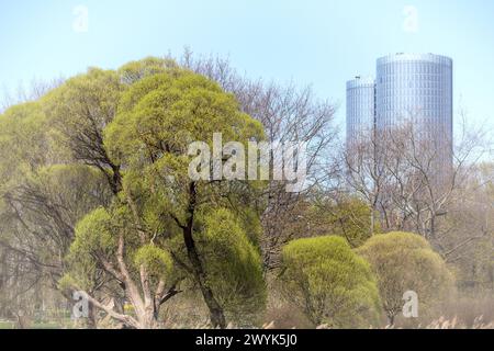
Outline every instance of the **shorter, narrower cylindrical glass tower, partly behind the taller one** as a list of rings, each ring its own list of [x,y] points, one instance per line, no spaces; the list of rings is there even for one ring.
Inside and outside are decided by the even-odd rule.
[[[347,82],[347,145],[362,141],[375,122],[375,82],[356,77]]]

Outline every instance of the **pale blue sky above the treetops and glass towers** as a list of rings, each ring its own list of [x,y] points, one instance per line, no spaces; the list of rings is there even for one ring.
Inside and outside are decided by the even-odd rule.
[[[388,54],[434,53],[453,59],[456,112],[494,131],[493,15],[486,0],[0,0],[0,93],[189,47],[311,84],[343,125],[347,80]]]

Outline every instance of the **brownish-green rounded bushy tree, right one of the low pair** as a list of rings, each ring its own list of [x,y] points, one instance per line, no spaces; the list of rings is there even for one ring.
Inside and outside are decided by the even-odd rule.
[[[403,309],[407,291],[418,294],[419,305],[431,306],[451,291],[453,278],[441,257],[426,239],[412,233],[393,231],[371,237],[357,252],[366,258],[378,278],[383,310],[389,324]]]

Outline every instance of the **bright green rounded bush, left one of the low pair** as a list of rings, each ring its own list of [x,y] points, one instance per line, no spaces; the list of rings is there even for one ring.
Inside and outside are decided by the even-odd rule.
[[[379,318],[379,293],[369,264],[336,236],[297,239],[282,252],[287,297],[315,325],[369,327]]]

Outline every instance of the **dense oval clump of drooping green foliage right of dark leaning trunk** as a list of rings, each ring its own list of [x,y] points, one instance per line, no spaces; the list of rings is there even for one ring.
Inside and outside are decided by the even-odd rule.
[[[231,318],[255,318],[266,303],[261,258],[232,212],[218,208],[205,215],[200,251],[207,284]]]

